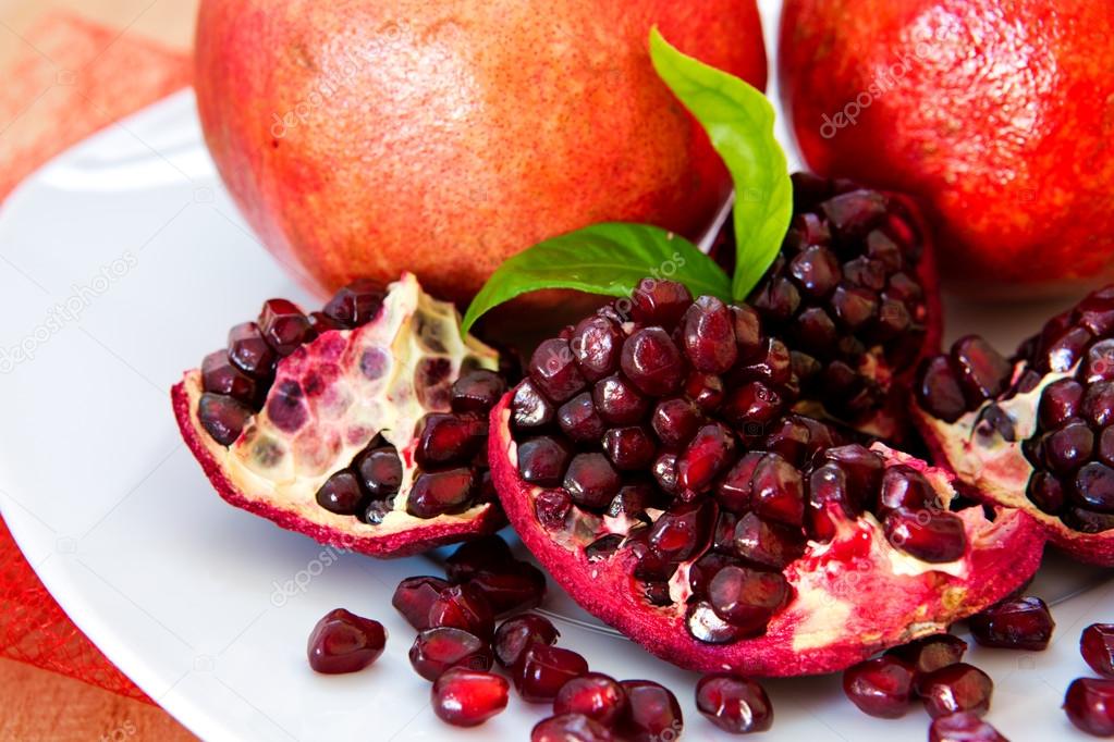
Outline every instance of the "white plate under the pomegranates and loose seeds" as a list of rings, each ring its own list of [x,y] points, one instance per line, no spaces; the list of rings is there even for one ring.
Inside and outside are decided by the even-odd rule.
[[[546,715],[516,699],[479,730],[441,724],[407,661],[413,632],[390,607],[400,578],[437,566],[340,554],[231,508],[182,444],[167,395],[182,370],[264,298],[309,298],[236,214],[190,93],[30,178],[0,212],[0,508],[78,626],[183,724],[206,740],[524,740]],[[949,329],[1010,347],[1051,311],[951,303]],[[1058,706],[1087,671],[1079,630],[1114,619],[1111,588],[1096,571],[1047,565],[1034,592],[1075,594],[1054,609],[1053,646],[971,651],[997,684],[990,719],[1015,742],[1086,739]],[[392,639],[368,672],[315,675],[305,637],[339,605],[383,621]],[[674,689],[686,739],[727,739],[693,705],[696,675],[563,594],[546,610],[593,669]],[[896,722],[859,713],[838,676],[768,687],[778,739],[926,736],[918,710]]]

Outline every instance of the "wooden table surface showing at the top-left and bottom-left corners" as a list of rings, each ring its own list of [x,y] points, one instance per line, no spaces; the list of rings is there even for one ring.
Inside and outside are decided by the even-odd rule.
[[[43,13],[70,10],[187,49],[197,0],[0,0],[0,69]],[[195,739],[157,706],[19,662],[0,660],[0,741],[178,742]]]

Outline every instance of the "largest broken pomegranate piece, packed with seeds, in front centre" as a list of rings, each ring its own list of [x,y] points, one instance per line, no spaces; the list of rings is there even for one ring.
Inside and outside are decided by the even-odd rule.
[[[492,409],[504,508],[582,606],[688,669],[794,675],[940,633],[1033,574],[1024,513],[954,511],[945,472],[791,410],[791,352],[758,313],[686,294],[643,281],[540,344]],[[653,456],[628,467],[606,431],[539,414],[580,395]]]

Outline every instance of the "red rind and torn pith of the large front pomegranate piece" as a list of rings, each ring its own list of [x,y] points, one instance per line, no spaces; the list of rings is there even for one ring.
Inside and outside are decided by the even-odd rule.
[[[580,607],[652,654],[688,670],[751,676],[843,670],[887,647],[946,632],[955,621],[1013,593],[1039,565],[1044,535],[1032,518],[1012,509],[998,511],[993,525],[983,521],[977,540],[969,538],[981,544],[969,556],[970,574],[978,578],[961,581],[938,572],[899,577],[888,568],[872,565],[857,573],[857,590],[885,597],[867,600],[866,604],[844,597],[848,590],[840,575],[847,574],[846,565],[823,568],[840,550],[828,550],[827,560],[810,561],[807,553],[788,567],[793,571],[791,584],[807,577],[828,594],[818,595],[811,606],[798,595],[785,611],[774,616],[762,636],[727,645],[705,644],[688,634],[684,611],[649,609],[644,600],[636,597],[632,577],[635,558],[628,551],[612,557],[608,568],[600,568],[585,556],[587,543],[573,547],[555,543],[537,523],[531,492],[538,489],[519,478],[515,466],[517,455],[509,427],[511,397],[512,393],[508,393],[491,410],[488,458],[499,499],[515,531]],[[981,518],[976,511],[965,512],[968,517]],[[854,553],[860,535],[847,543],[849,553]],[[846,607],[847,615],[832,619],[833,605]]]

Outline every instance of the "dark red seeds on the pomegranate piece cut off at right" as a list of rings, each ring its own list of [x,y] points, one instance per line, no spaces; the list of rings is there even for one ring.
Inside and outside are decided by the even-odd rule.
[[[981,407],[976,432],[1014,442],[1015,421],[984,403],[1043,385],[1036,432],[1020,442],[1034,468],[1028,497],[1075,531],[1114,528],[1114,287],[1054,317],[1013,360],[1024,362],[1016,378],[989,344],[964,338],[922,367],[918,400],[947,422]]]

